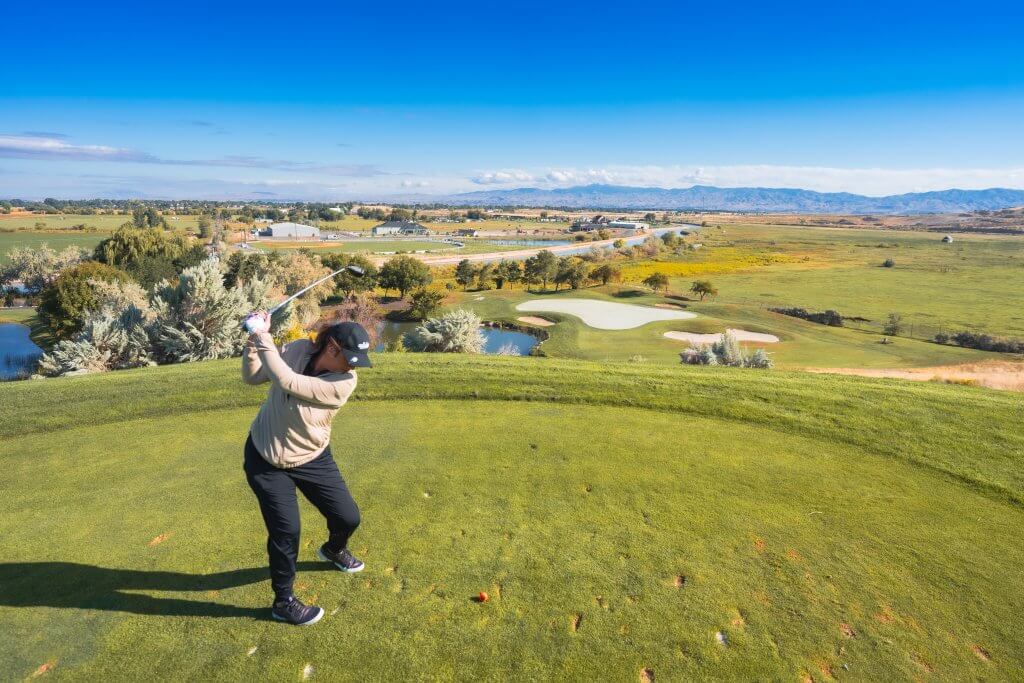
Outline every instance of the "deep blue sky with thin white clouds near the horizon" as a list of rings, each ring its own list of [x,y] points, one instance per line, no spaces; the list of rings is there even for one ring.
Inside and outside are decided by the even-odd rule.
[[[1011,3],[150,4],[7,11],[0,196],[1024,188]]]

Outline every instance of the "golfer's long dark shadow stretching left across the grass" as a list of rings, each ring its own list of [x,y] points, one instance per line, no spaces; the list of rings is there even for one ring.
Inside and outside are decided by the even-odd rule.
[[[300,571],[331,568],[323,562],[298,563]],[[0,605],[97,609],[160,616],[268,620],[269,594],[267,606],[242,607],[207,600],[161,598],[131,592],[210,592],[268,580],[266,567],[193,574],[117,569],[75,562],[9,562],[0,563]]]

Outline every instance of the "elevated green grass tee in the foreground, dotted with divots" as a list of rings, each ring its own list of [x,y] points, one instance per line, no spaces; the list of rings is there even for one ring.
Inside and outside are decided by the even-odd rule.
[[[313,561],[303,507],[313,629],[266,618],[236,361],[0,385],[3,678],[1024,676],[1018,394],[378,366],[334,434],[366,571]]]

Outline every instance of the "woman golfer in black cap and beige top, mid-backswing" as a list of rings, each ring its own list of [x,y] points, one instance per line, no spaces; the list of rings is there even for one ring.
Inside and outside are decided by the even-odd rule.
[[[370,368],[370,336],[356,323],[325,329],[316,342],[300,339],[279,353],[269,315],[250,319],[254,331],[242,356],[247,384],[270,383],[246,440],[245,471],[266,523],[273,618],[298,626],[315,624],[324,609],[307,606],[292,593],[299,554],[298,487],[327,518],[330,533],[317,557],[342,571],[362,562],[348,552],[359,525],[359,509],[331,455],[331,421],[355,389],[354,368]]]

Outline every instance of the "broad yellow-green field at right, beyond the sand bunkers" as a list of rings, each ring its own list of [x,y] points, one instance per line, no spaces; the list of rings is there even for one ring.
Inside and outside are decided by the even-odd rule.
[[[706,228],[706,249],[660,269],[673,288],[710,279],[722,303],[835,308],[882,321],[899,312],[929,332],[975,329],[1024,337],[1024,238],[766,225]],[[892,259],[894,267],[882,267]],[[681,271],[680,271],[681,270]]]

